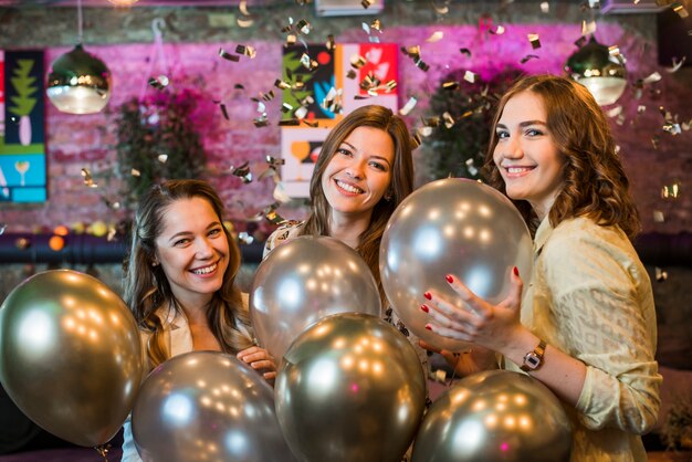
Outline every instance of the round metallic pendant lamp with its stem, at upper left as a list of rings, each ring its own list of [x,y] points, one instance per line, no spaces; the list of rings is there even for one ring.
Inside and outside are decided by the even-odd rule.
[[[77,45],[53,62],[45,93],[63,113],[93,114],[111,98],[111,71],[82,45],[82,0],[77,0]]]

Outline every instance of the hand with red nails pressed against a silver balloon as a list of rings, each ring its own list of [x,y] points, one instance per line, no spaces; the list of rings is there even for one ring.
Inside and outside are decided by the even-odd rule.
[[[432,290],[426,292],[423,306],[432,318],[426,325],[427,329],[499,351],[512,338],[513,330],[522,328],[520,311],[524,285],[516,267],[510,276],[508,295],[497,305],[475,295],[457,276],[447,275],[447,281],[464,306],[454,305],[443,294]]]

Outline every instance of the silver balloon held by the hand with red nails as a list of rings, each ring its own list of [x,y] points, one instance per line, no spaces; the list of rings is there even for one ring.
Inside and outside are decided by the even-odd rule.
[[[476,295],[499,303],[508,294],[513,266],[525,281],[531,275],[532,249],[522,216],[501,192],[460,178],[432,181],[407,197],[387,223],[379,254],[382,286],[413,334],[463,350],[463,342],[426,329],[423,293],[434,290],[464,306],[444,279],[454,274]]]

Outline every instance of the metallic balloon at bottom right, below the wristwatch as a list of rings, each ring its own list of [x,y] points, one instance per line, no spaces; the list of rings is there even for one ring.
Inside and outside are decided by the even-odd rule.
[[[423,419],[412,462],[567,462],[572,428],[551,390],[524,374],[460,380]]]

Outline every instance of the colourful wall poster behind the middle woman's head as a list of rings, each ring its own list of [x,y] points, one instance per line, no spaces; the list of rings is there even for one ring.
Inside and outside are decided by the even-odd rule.
[[[398,111],[397,45],[394,43],[293,45],[284,48],[282,181],[293,198],[310,197],[310,179],[325,137],[344,114],[368,104]],[[395,84],[392,84],[395,83]]]

